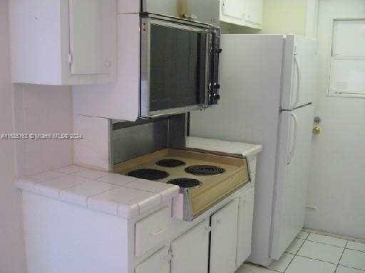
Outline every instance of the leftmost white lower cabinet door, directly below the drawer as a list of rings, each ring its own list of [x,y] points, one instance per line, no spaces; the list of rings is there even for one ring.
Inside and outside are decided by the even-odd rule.
[[[146,259],[135,267],[135,273],[170,273],[170,257],[168,247],[155,253],[152,257]]]

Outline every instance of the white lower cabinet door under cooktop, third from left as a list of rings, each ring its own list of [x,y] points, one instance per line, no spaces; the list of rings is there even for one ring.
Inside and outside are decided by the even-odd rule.
[[[212,215],[210,273],[234,273],[237,252],[238,198]]]

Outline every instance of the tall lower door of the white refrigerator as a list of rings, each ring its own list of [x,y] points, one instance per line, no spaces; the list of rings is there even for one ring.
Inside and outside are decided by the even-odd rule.
[[[313,118],[313,105],[282,112],[273,203],[272,259],[282,256],[304,225]]]

